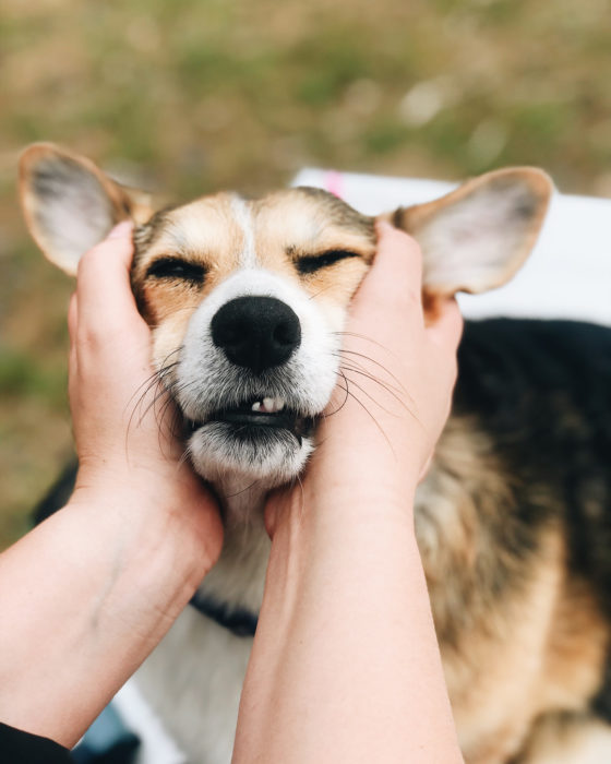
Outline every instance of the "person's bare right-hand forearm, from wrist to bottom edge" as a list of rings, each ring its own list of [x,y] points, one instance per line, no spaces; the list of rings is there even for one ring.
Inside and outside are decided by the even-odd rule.
[[[236,762],[462,761],[408,502],[280,522]]]

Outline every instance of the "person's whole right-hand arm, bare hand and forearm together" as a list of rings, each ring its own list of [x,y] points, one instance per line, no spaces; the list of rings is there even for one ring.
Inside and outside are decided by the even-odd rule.
[[[418,246],[387,224],[378,232],[343,354],[354,397],[321,423],[302,481],[268,501],[236,764],[463,761],[412,513],[450,410],[462,319],[447,300],[426,325]]]

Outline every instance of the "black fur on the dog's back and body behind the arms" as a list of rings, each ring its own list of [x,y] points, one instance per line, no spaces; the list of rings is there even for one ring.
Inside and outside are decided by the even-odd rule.
[[[467,322],[458,351],[456,414],[491,435],[513,476],[515,506],[489,528],[515,564],[488,581],[496,596],[537,550],[541,525],[562,522],[570,568],[587,581],[611,621],[611,330],[572,321]],[[39,504],[62,506],[74,466]],[[441,635],[440,635],[441,636]],[[592,708],[611,721],[611,662]]]

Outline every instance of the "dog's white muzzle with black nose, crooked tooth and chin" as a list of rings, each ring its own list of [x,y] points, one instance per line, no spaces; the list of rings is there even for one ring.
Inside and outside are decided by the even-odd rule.
[[[218,290],[190,321],[176,377],[189,455],[213,482],[272,488],[312,453],[337,337],[309,296],[274,274],[238,273]]]

